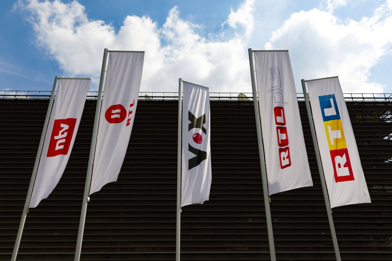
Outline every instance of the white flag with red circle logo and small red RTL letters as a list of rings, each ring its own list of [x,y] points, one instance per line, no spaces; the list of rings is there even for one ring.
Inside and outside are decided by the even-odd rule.
[[[144,52],[109,51],[90,195],[116,181],[120,173],[138,104],[143,61]]]

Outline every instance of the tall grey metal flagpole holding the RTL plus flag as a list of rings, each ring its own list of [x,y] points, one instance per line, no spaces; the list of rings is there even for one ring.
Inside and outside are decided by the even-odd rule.
[[[270,207],[269,207],[267,173],[265,171],[263,140],[262,140],[261,126],[260,126],[259,105],[258,105],[257,94],[256,94],[256,81],[254,80],[254,66],[253,66],[252,49],[249,48],[248,52],[249,52],[249,65],[250,65],[250,79],[252,80],[253,106],[254,106],[254,114],[256,116],[257,142],[258,142],[258,145],[259,145],[261,180],[263,182],[265,219],[267,220],[267,232],[268,232],[268,242],[269,242],[269,248],[270,248],[270,257],[271,257],[271,261],[276,261],[275,245],[274,245],[274,234],[272,232],[271,210],[270,210]]]

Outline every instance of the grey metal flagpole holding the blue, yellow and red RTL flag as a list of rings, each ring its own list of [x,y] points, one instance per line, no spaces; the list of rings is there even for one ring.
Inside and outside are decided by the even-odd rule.
[[[320,152],[319,152],[319,149],[318,149],[316,132],[314,130],[312,112],[310,111],[310,104],[309,104],[309,99],[308,99],[308,95],[307,95],[308,92],[306,91],[305,80],[302,79],[301,83],[302,83],[303,97],[305,98],[306,111],[308,113],[310,132],[312,133],[312,140],[313,140],[313,144],[314,144],[314,152],[316,152],[317,166],[318,166],[318,170],[319,170],[319,173],[320,173],[321,187],[323,188],[325,207],[327,208],[328,223],[329,223],[329,227],[330,227],[330,230],[331,230],[332,242],[334,244],[336,261],[341,261],[341,259],[340,259],[340,252],[339,252],[339,246],[338,246],[338,239],[336,239],[335,226],[334,226],[334,221],[332,219],[332,210],[331,210],[331,206],[329,205],[328,191],[327,191],[327,186],[325,185],[323,165],[321,163]]]

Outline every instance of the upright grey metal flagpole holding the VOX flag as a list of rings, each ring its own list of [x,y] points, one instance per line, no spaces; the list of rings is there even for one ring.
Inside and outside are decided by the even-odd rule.
[[[182,122],[182,79],[178,79],[178,140],[177,140],[177,220],[176,261],[180,261],[180,217],[181,217],[181,122]]]

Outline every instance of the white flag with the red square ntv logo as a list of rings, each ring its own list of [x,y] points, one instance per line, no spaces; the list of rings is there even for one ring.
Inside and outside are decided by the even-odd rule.
[[[78,132],[90,79],[59,78],[29,208],[47,198],[64,173]]]

